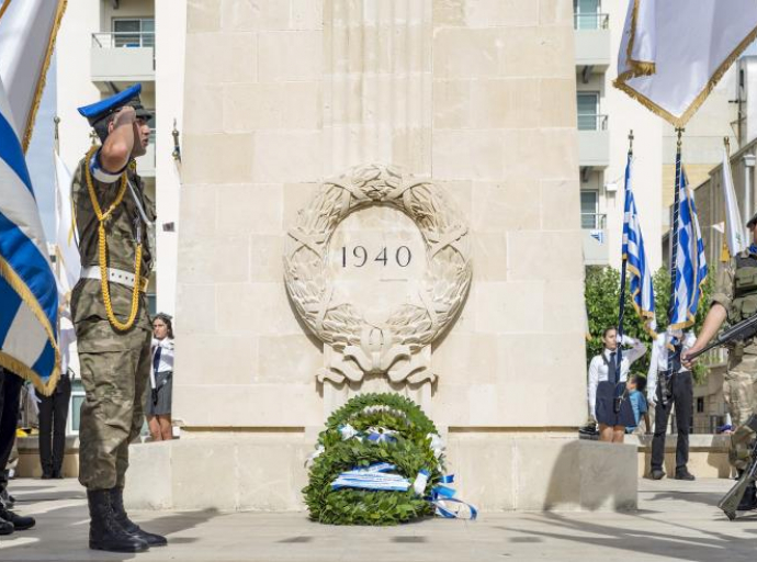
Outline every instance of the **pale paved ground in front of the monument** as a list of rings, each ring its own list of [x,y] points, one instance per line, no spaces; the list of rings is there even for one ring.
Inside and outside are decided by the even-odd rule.
[[[19,512],[37,527],[0,539],[10,561],[478,562],[550,560],[754,561],[757,513],[731,522],[714,507],[728,481],[640,481],[640,509],[614,513],[483,514],[477,521],[430,519],[395,528],[330,527],[304,514],[135,513],[170,546],[144,554],[94,552],[78,483],[15,480]]]

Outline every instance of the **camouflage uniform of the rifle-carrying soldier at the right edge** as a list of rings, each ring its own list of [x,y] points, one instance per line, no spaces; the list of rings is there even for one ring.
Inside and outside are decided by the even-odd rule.
[[[728,322],[735,324],[757,313],[757,256],[748,250],[731,260],[719,278],[713,303],[722,304]],[[728,349],[728,369],[723,381],[723,397],[734,427],[731,463],[744,468],[748,459],[748,445],[754,432],[744,426],[755,412],[755,382],[757,382],[757,342],[748,339]]]

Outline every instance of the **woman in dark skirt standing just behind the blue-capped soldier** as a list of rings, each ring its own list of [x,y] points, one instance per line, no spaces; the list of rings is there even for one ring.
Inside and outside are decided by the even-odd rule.
[[[152,368],[145,414],[154,441],[173,439],[171,395],[173,394],[173,326],[168,314],[152,319]]]

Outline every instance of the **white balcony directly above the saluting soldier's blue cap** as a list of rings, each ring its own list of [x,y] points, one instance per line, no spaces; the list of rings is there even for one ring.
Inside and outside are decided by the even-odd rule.
[[[155,33],[93,33],[92,82],[112,93],[134,82],[155,82]]]

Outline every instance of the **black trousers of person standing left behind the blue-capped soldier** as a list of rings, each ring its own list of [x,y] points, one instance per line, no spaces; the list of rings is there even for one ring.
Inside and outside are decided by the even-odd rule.
[[[68,376],[60,378],[50,396],[39,396],[39,461],[45,474],[52,475],[63,469],[70,397],[71,380]]]

